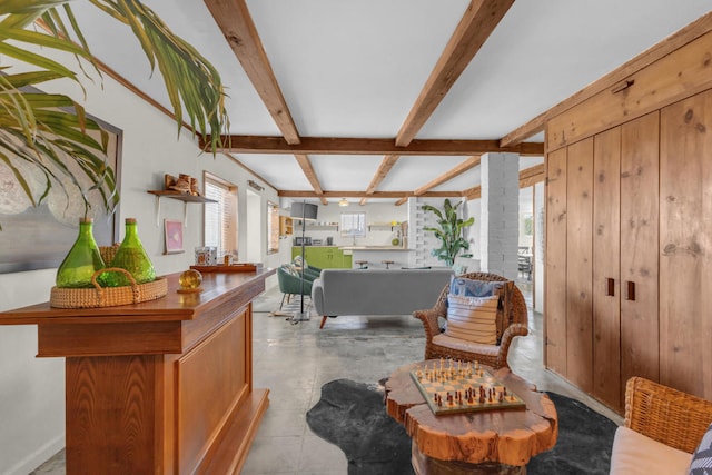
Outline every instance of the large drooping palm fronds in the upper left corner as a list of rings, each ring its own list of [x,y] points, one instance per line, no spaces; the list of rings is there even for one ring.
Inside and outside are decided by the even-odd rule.
[[[228,125],[217,70],[140,1],[85,1],[105,12],[109,21],[131,29],[150,69],[158,67],[161,72],[178,130],[184,120],[189,122],[194,133],[212,145],[215,154]],[[0,168],[10,170],[32,206],[59,188],[67,198],[70,194],[80,196],[85,215],[91,206],[89,194],[98,194],[110,212],[119,198],[115,170],[107,162],[107,132],[70,97],[36,89],[56,79],[81,85],[80,77],[91,79],[83,65],[101,76],[69,3],[0,1],[0,56],[27,66],[22,72],[0,67]],[[80,72],[42,56],[42,49],[75,55]]]

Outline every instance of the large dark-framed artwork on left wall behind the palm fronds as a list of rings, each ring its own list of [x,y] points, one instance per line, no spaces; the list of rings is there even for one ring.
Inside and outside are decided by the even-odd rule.
[[[107,159],[120,190],[122,131],[96,117],[92,119],[109,132]],[[77,171],[75,176],[80,176]],[[34,178],[44,179],[40,174]],[[10,169],[0,161],[0,274],[59,267],[77,239],[79,219],[85,215],[79,191],[72,188],[67,187],[70,192],[65,194],[60,187],[52,187],[42,205],[33,207]],[[95,191],[88,194],[88,199],[92,204],[90,216],[97,244],[110,246],[118,241],[118,207],[112,214],[107,212]]]

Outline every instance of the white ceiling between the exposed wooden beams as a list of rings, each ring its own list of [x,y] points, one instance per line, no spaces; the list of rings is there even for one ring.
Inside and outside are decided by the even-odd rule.
[[[144,2],[217,67],[231,133],[281,136],[202,1]],[[469,1],[246,3],[301,137],[394,138]],[[136,41],[85,7],[73,4],[95,55],[168,107]],[[516,0],[416,138],[500,139],[709,10],[709,0]],[[277,190],[314,189],[293,155],[236,158]],[[403,156],[377,190],[413,191],[466,158]],[[364,191],[383,156],[309,159],[324,191],[346,192]],[[478,184],[476,167],[433,191]]]

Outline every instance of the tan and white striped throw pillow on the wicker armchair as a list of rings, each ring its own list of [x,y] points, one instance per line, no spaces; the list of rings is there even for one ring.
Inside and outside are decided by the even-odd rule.
[[[447,297],[445,335],[483,345],[497,343],[497,304],[500,296]]]

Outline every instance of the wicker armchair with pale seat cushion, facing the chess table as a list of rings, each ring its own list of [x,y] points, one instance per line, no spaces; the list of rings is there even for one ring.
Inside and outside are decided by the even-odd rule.
[[[496,274],[488,273],[463,274],[461,277],[487,281],[510,280]],[[441,327],[437,321],[438,317],[447,318],[448,291],[449,285],[446,285],[433,308],[429,310],[417,310],[413,313],[413,316],[423,321],[423,326],[425,327],[425,359],[453,358],[463,362],[477,360],[495,369],[508,367],[507,355],[510,353],[512,339],[516,336],[526,336],[528,334],[528,314],[522,291],[516,286],[513,286],[512,305],[510,306],[511,325],[504,329],[500,345],[466,345],[466,343],[463,342],[464,345],[457,345],[457,347],[442,346],[433,342],[433,337],[441,334]],[[464,350],[464,346],[474,347],[475,350]]]

